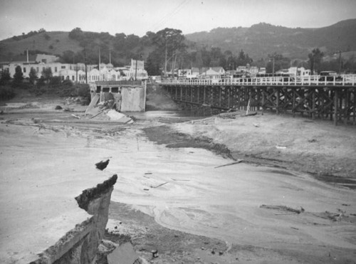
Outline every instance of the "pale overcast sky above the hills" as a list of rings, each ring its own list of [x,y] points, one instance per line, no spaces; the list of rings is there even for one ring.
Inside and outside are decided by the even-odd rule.
[[[266,22],[320,28],[356,18],[356,0],[0,0],[0,40],[29,31],[83,31],[144,36],[183,34]]]

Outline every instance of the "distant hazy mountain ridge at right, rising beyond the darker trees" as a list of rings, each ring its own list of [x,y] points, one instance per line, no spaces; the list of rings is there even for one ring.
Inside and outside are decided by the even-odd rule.
[[[185,37],[209,48],[220,47],[223,51],[238,53],[243,49],[255,60],[275,52],[289,58],[305,59],[313,48],[320,48],[325,54],[356,51],[356,19],[323,28],[287,28],[258,23],[250,28],[214,28]]]

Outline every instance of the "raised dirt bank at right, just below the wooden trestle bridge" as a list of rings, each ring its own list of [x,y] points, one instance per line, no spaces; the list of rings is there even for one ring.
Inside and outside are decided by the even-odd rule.
[[[273,113],[244,117],[235,112],[145,132],[167,147],[201,147],[231,159],[302,171],[323,181],[345,183],[345,178],[356,178],[355,126],[335,127],[328,121]]]

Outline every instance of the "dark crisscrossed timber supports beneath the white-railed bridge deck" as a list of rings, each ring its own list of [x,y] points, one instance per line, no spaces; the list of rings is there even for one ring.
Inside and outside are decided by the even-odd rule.
[[[355,86],[240,86],[161,84],[181,105],[226,110],[273,110],[356,125]]]

